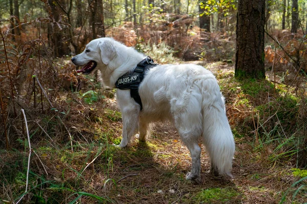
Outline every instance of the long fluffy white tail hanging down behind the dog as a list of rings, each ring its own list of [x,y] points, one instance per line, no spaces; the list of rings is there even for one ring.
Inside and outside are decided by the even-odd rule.
[[[203,142],[211,158],[211,170],[231,175],[234,139],[225,113],[225,103],[217,83],[203,86]],[[208,86],[208,87],[206,87]]]

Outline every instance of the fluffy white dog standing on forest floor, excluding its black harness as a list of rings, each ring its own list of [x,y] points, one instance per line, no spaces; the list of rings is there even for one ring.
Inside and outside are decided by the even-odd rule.
[[[133,47],[112,38],[99,38],[87,44],[72,62],[85,65],[78,70],[85,74],[99,69],[104,85],[114,88],[122,75],[133,71],[145,58]],[[211,172],[231,176],[234,139],[220,87],[210,71],[194,64],[157,65],[145,72],[139,95],[142,110],[129,89],[117,90],[123,121],[120,147],[127,146],[138,128],[139,140],[145,141],[150,134],[149,123],[170,120],[191,154],[192,168],[186,179],[200,179],[199,138],[209,153]]]

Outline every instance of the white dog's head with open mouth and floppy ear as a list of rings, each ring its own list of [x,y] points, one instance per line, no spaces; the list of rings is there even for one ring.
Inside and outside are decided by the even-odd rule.
[[[77,66],[83,66],[78,73],[89,74],[96,68],[106,67],[116,56],[116,48],[112,38],[98,38],[86,45],[84,51],[72,58]]]

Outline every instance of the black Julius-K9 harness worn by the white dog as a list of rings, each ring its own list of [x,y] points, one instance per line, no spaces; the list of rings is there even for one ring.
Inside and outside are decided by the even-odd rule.
[[[118,78],[115,83],[118,89],[130,89],[130,96],[141,106],[141,111],[143,110],[143,106],[139,95],[139,86],[144,79],[145,72],[155,66],[157,66],[157,64],[147,56],[137,65],[133,72],[124,74],[122,77]]]

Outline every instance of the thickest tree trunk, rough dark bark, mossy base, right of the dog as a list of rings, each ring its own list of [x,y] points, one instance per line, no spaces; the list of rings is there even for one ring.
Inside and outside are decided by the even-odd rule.
[[[265,0],[239,0],[235,77],[265,79]]]

